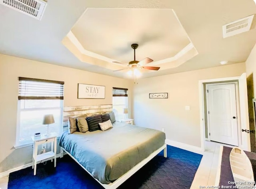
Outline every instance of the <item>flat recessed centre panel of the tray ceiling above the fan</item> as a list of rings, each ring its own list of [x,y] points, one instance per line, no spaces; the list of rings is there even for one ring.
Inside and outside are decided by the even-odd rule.
[[[172,9],[88,8],[72,28],[83,48],[128,63],[175,56],[190,40]]]

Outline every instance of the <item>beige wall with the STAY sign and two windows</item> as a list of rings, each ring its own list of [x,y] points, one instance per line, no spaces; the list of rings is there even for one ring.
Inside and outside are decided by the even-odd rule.
[[[112,104],[112,87],[128,88],[129,94],[133,87],[129,80],[0,54],[0,173],[32,162],[32,146],[13,148],[18,77],[64,81],[64,106]],[[77,99],[78,83],[106,86],[106,98]],[[130,113],[132,95],[128,96],[128,101]]]

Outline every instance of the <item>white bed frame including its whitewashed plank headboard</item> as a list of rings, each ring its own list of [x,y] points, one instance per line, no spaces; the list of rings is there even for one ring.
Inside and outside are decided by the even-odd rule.
[[[103,113],[103,112],[110,112],[112,111],[112,104],[108,104],[108,105],[92,105],[92,106],[69,106],[69,107],[64,107],[64,125],[66,123],[67,125],[67,120],[69,116],[74,116],[74,115],[83,115],[83,114],[87,114],[87,115],[92,115],[94,113]],[[153,153],[151,153],[146,159],[142,160],[140,163],[138,163],[137,165],[135,165],[132,169],[130,169],[130,171],[128,171],[127,173],[125,173],[124,175],[122,175],[120,178],[118,178],[117,180],[115,180],[112,183],[109,184],[102,184],[100,181],[98,181],[98,179],[95,179],[92,174],[86,170],[86,168],[84,168],[83,165],[81,165],[75,157],[73,157],[68,151],[66,151],[64,148],[60,147],[60,158],[63,157],[64,155],[64,151],[70,155],[70,157],[72,157],[72,159],[74,159],[76,161],[76,163],[78,163],[78,165],[80,165],[87,173],[89,173],[98,183],[100,183],[100,185],[102,185],[105,189],[116,189],[117,187],[119,187],[122,183],[124,183],[124,181],[126,181],[128,178],[130,178],[134,173],[136,173],[141,167],[143,167],[144,165],[146,165],[146,163],[148,163],[151,159],[153,159],[158,153],[160,153],[160,151],[164,150],[164,157],[167,157],[167,145],[166,143],[160,147],[159,149],[157,149],[156,151],[154,151]]]

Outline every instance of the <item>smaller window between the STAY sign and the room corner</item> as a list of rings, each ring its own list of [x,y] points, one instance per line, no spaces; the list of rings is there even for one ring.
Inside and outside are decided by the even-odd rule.
[[[124,108],[128,107],[128,89],[113,87],[113,111],[116,115],[116,120],[121,121],[128,117],[124,113]]]

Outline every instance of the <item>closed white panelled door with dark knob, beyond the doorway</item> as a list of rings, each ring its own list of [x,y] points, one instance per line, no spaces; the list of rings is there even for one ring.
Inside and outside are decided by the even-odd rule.
[[[235,84],[209,85],[207,89],[210,140],[238,146]]]

